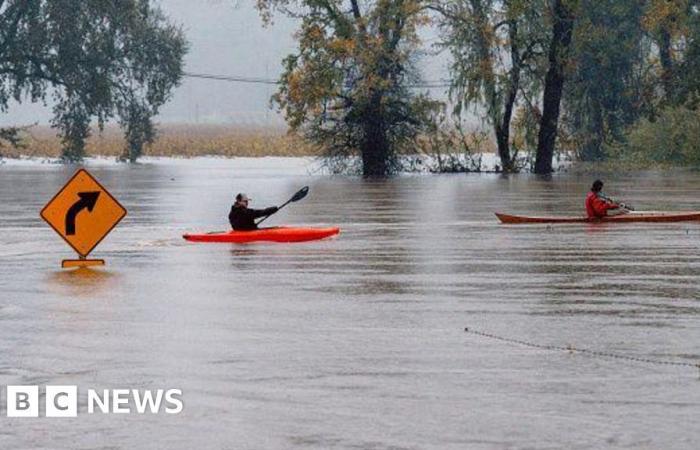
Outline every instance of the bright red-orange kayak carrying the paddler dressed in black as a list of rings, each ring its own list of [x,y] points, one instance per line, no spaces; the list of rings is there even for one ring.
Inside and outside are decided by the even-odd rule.
[[[224,242],[246,244],[248,242],[306,242],[317,241],[340,233],[340,228],[273,227],[252,231],[224,231],[203,234],[184,234],[190,242]]]

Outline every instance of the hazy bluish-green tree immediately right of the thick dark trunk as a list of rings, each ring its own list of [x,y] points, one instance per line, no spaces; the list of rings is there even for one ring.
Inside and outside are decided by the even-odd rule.
[[[563,124],[578,155],[605,157],[604,144],[623,139],[624,130],[648,109],[650,51],[638,0],[581,0],[564,88]]]

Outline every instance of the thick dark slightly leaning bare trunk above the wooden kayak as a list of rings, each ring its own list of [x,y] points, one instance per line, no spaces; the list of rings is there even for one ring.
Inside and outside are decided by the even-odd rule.
[[[554,145],[559,125],[559,107],[564,90],[564,64],[571,44],[574,12],[570,0],[555,0],[553,8],[552,41],[549,46],[549,69],[545,77],[542,119],[535,156],[535,173],[552,172]]]

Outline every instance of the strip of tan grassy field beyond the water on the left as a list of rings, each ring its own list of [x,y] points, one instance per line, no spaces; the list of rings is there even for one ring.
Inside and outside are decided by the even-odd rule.
[[[24,136],[24,148],[4,147],[5,157],[58,157],[61,142],[50,127],[36,126]],[[87,142],[88,156],[119,156],[124,148],[121,131],[115,126],[103,132],[94,130]],[[233,125],[161,125],[146,156],[315,156],[317,150],[303,138],[280,128],[255,128]]]

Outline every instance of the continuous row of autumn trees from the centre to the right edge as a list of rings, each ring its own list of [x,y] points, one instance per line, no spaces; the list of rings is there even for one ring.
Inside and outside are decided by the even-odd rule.
[[[257,4],[265,21],[276,10],[301,20],[274,101],[338,170],[354,155],[365,175],[401,170],[416,142],[463,152],[466,162],[453,160],[472,170],[479,139],[463,132],[467,110],[483,113],[505,172],[551,172],[555,148],[588,161],[700,160],[699,1]],[[426,27],[439,30],[436,47],[452,56],[450,111],[408,88],[428,50],[419,39]]]

